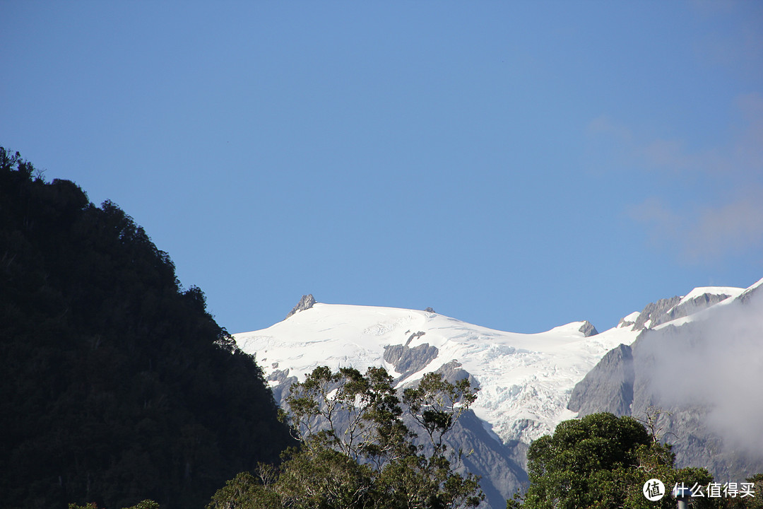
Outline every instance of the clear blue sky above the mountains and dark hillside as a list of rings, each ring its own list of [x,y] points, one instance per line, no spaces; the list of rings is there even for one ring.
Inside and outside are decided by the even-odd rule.
[[[0,0],[0,145],[230,332],[301,295],[599,330],[763,277],[760,2]]]

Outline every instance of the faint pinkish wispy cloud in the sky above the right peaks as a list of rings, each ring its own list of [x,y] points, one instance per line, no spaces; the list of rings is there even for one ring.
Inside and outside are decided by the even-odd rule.
[[[607,144],[602,157],[615,168],[671,176],[655,180],[654,194],[629,214],[648,228],[652,243],[681,259],[713,262],[763,246],[763,98],[739,96],[736,108],[740,121],[729,128],[730,141],[695,151],[679,139],[639,139],[606,116],[588,126],[597,143]],[[674,198],[691,196],[693,186],[712,199]]]

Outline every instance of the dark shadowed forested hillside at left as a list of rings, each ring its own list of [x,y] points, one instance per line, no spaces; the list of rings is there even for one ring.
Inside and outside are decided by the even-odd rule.
[[[288,445],[250,356],[113,203],[0,148],[0,506],[203,507]]]

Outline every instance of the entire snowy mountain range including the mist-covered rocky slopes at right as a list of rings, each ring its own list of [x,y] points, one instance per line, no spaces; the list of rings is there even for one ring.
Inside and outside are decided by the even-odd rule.
[[[263,330],[235,335],[256,353],[277,401],[316,366],[384,366],[398,388],[425,372],[468,376],[478,399],[452,446],[483,476],[490,507],[526,487],[526,450],[559,422],[600,411],[645,420],[674,444],[678,466],[743,481],[763,470],[756,425],[763,298],[758,284],[694,288],[647,304],[597,333],[587,322],[543,333],[486,329],[432,310],[298,305]],[[301,308],[301,309],[300,309]],[[455,371],[454,371],[455,370]],[[662,414],[657,412],[661,411]]]

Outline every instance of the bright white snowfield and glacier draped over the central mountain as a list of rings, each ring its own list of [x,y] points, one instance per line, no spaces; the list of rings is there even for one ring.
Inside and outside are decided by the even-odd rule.
[[[400,382],[405,385],[456,359],[477,379],[480,391],[472,407],[504,443],[530,443],[552,433],[562,420],[575,417],[566,409],[569,395],[602,356],[620,343],[630,344],[638,331],[613,328],[584,337],[582,321],[542,333],[488,329],[442,314],[400,308],[314,304],[267,329],[235,334],[238,346],[256,355],[265,375],[289,369],[300,381],[317,366],[352,366],[365,372],[394,366],[383,359],[385,346],[423,343],[439,355],[424,369]]]

